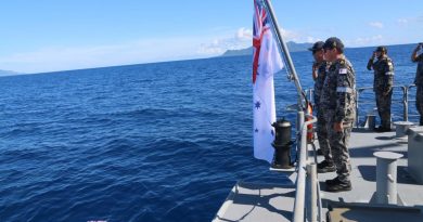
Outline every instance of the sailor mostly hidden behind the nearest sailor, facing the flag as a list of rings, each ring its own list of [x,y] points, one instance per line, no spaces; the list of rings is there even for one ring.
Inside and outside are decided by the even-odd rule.
[[[312,48],[308,49],[312,52],[312,56],[315,57],[315,63],[312,64],[312,79],[315,80],[315,110],[317,116],[317,135],[319,140],[320,149],[318,149],[318,154],[324,156],[324,160],[318,164],[318,172],[334,172],[336,170],[335,165],[333,164],[331,147],[329,145],[328,140],[328,130],[326,130],[326,121],[323,117],[323,112],[320,107],[320,94],[323,88],[323,82],[326,76],[328,62],[324,61],[324,42],[318,41]]]

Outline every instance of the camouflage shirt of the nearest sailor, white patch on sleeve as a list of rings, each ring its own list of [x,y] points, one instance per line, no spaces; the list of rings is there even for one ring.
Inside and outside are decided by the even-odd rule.
[[[356,75],[347,58],[331,64],[320,97],[329,122],[354,122],[356,119]]]

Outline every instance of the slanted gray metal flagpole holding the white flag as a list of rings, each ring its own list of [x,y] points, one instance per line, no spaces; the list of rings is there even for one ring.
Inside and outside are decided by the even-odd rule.
[[[295,70],[294,63],[292,62],[290,51],[287,50],[286,43],[285,43],[285,41],[283,41],[282,34],[279,29],[280,26],[278,24],[277,16],[274,15],[273,6],[270,3],[270,0],[264,0],[264,2],[268,9],[269,14],[270,14],[271,22],[273,24],[273,29],[274,29],[274,32],[275,32],[277,38],[278,38],[278,43],[279,43],[280,48],[282,49],[283,54],[285,55],[289,71],[290,71],[290,77],[294,80],[295,87],[297,88],[298,112],[304,110],[303,101],[306,101],[306,97],[303,94],[303,88],[302,88],[302,84],[299,83],[299,79],[298,79],[297,73]]]

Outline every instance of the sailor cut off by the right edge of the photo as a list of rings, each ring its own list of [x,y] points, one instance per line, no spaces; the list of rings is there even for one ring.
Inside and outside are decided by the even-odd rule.
[[[418,88],[415,93],[415,106],[420,114],[420,126],[423,126],[423,43],[414,49],[411,54],[411,61],[418,63],[418,70],[415,71],[414,84]]]

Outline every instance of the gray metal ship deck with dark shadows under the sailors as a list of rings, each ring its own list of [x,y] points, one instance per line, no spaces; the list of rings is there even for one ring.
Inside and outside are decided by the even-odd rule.
[[[376,190],[376,158],[374,152],[389,151],[403,155],[398,160],[398,195],[406,206],[415,206],[423,212],[423,185],[407,172],[407,138],[396,139],[395,132],[374,133],[355,129],[350,138],[351,184],[352,191],[343,193],[321,192],[323,207],[330,201],[369,203]],[[317,145],[317,142],[316,142]],[[311,155],[310,155],[311,156]],[[319,157],[321,160],[322,157]],[[422,159],[423,161],[423,159]],[[324,181],[336,174],[319,174],[321,190]],[[275,184],[238,183],[218,211],[214,221],[291,221],[295,198],[295,187]],[[400,201],[400,200],[399,200]],[[323,213],[328,211],[323,209]],[[369,217],[363,213],[362,217]],[[374,221],[369,218],[354,217],[351,221]],[[423,214],[419,213],[423,221]],[[420,220],[421,219],[421,220]]]

